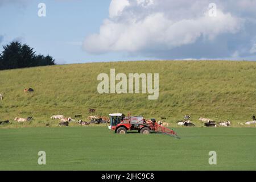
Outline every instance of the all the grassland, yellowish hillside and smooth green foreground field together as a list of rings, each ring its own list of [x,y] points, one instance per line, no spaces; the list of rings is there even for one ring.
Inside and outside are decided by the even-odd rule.
[[[159,99],[148,94],[98,94],[97,76],[159,73]],[[246,61],[134,61],[56,65],[0,71],[0,170],[256,170],[256,127],[241,126],[256,114],[256,63]],[[33,88],[24,94],[24,88]],[[175,129],[181,139],[138,133],[117,135],[103,126],[57,127],[53,114],[74,117],[129,112],[166,117],[170,127],[185,114],[193,128]],[[16,123],[15,117],[34,118]],[[229,120],[229,128],[205,128],[199,117]],[[50,123],[50,127],[45,127]],[[47,165],[38,165],[46,151]],[[217,165],[208,163],[217,152]]]

